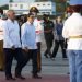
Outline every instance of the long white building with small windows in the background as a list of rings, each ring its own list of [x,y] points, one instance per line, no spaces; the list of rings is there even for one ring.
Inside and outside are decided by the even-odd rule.
[[[39,15],[50,14],[56,15],[56,3],[51,1],[47,2],[10,2],[9,9],[14,10],[16,14],[28,13],[31,7],[36,7],[39,10]]]

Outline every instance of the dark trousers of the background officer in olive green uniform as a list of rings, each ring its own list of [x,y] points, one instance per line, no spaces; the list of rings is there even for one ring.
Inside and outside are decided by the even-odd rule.
[[[50,49],[52,47],[52,40],[54,40],[52,33],[45,33],[45,42],[46,42],[46,46],[47,46],[45,55],[49,54],[51,56]]]

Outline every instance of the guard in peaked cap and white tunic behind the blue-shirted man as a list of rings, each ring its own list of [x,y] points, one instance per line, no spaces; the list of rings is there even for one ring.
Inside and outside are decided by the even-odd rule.
[[[42,54],[40,54],[40,45],[42,45],[42,24],[40,24],[40,20],[38,20],[37,17],[37,13],[38,13],[38,9],[36,7],[32,7],[30,9],[30,13],[33,13],[35,19],[34,19],[34,26],[35,26],[35,31],[36,31],[36,43],[37,43],[37,69],[38,72],[42,71]]]

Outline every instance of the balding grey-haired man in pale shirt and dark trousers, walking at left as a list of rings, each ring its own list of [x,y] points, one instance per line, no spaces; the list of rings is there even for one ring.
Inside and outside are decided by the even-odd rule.
[[[21,49],[20,40],[20,26],[15,21],[15,13],[13,10],[7,12],[8,20],[4,22],[4,39],[3,49],[5,54],[5,79],[15,80],[11,73],[13,57],[16,59],[17,65],[15,68],[15,78],[25,79],[21,75],[23,68],[24,57]]]

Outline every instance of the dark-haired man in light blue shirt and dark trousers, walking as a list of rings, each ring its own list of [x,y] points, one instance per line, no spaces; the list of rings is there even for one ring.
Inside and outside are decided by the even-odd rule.
[[[26,63],[32,59],[33,65],[33,78],[40,79],[37,72],[37,44],[36,44],[36,33],[35,26],[33,25],[34,14],[30,13],[27,15],[27,22],[22,25],[22,48],[25,54]]]

